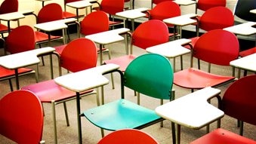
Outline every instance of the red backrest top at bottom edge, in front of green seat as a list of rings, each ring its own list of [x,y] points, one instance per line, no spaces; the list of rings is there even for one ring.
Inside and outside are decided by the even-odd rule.
[[[100,139],[97,144],[113,144],[113,143],[122,143],[122,144],[158,144],[153,136],[143,132],[142,130],[136,129],[123,129],[116,130]]]

